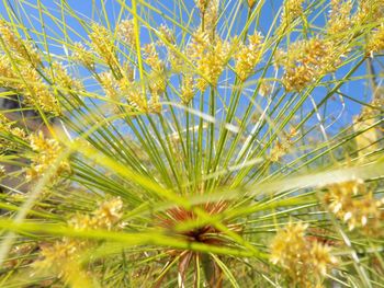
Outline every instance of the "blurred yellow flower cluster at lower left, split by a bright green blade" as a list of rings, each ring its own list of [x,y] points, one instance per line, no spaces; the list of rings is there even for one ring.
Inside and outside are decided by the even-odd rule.
[[[113,229],[122,218],[123,201],[112,198],[101,203],[92,215],[76,216],[68,226],[76,230]],[[88,240],[64,238],[53,245],[41,245],[42,258],[34,263],[36,268],[48,269],[58,278],[67,280],[74,273],[74,266],[79,268],[81,252],[86,252],[95,243]]]

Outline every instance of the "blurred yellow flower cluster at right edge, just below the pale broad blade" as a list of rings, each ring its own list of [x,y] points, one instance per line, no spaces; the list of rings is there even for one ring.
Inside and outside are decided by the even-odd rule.
[[[325,203],[348,224],[349,230],[358,228],[372,235],[381,233],[384,198],[375,198],[363,180],[354,178],[327,186]]]

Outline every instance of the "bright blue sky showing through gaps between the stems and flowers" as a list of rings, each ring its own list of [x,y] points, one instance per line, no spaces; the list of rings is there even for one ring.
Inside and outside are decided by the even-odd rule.
[[[0,3],[0,12],[4,19],[8,19],[8,12],[4,9],[4,2],[5,1],[2,1]],[[60,1],[9,0],[9,2],[12,3],[12,5],[14,5],[14,8],[15,8],[14,11],[18,14],[18,18],[23,21],[24,25],[26,27],[34,27],[34,30],[36,32],[42,32],[42,30],[43,30],[43,27],[41,26],[41,23],[39,23],[38,11],[35,9],[38,3],[41,3],[45,8],[49,9],[50,12],[53,14],[55,14],[55,16],[57,16],[58,19],[61,18],[60,8],[63,5],[60,4]],[[163,13],[163,15],[168,15],[168,18],[172,18],[171,11],[176,11],[176,9],[177,9],[173,5],[174,2],[172,0],[147,1],[147,2],[151,3],[156,9],[160,10]],[[165,2],[167,4],[163,4]],[[272,23],[272,20],[276,13],[276,10],[281,7],[281,3],[282,3],[281,0],[280,1],[275,1],[275,0],[268,1],[267,0],[266,2],[267,2],[267,4],[264,5],[264,8],[262,10],[261,16],[259,19],[259,27],[258,27],[258,30],[261,31],[263,34],[267,34],[267,32],[270,28],[270,25]],[[20,4],[20,3],[22,3],[22,4]],[[124,19],[124,18],[128,16],[128,13],[126,11],[121,14],[122,7],[120,5],[118,0],[104,1],[104,8],[106,11],[105,14],[102,14],[102,12],[101,12],[101,11],[103,11],[103,9],[102,9],[103,5],[101,5],[100,0],[68,0],[67,3],[68,3],[68,7],[70,9],[77,11],[76,14],[78,15],[78,19],[74,19],[71,16],[66,16],[66,22],[67,22],[68,26],[70,26],[74,30],[72,32],[68,31],[68,35],[70,36],[71,41],[81,41],[81,37],[84,37],[87,39],[87,32],[82,27],[81,21],[86,21],[86,22],[95,21],[99,23],[103,23],[104,25],[106,25],[106,21],[108,21],[109,24],[111,25],[111,28],[113,30],[115,27],[116,21],[118,21],[118,19]],[[183,3],[185,4],[185,8],[184,8],[185,10],[192,11],[192,9],[194,7],[192,0],[183,1]],[[222,3],[223,3],[223,1],[222,1]],[[225,1],[224,7],[226,7],[226,11],[227,11],[226,13],[229,14],[230,11],[236,8],[236,3],[237,3],[237,0],[236,1],[235,0]],[[127,7],[132,5],[131,1],[125,1],[125,4]],[[23,9],[21,9],[21,8],[23,8]],[[147,10],[144,9],[143,11],[147,11]],[[187,25],[187,22],[189,21],[187,18],[187,14],[185,13],[181,13],[181,14],[182,14],[182,21]],[[247,14],[247,9],[244,7],[240,9],[240,12],[237,14],[238,20],[237,20],[237,23],[235,26],[241,27],[244,25],[246,14]],[[105,18],[105,15],[106,15],[108,20]],[[172,25],[171,21],[167,20],[167,18],[163,15],[161,15],[159,13],[153,13],[153,18],[150,19],[151,25],[160,25],[160,24]],[[43,18],[45,21],[45,25],[46,25],[45,28],[46,28],[47,35],[54,35],[54,37],[56,37],[56,38],[64,37],[63,36],[64,34],[60,31],[63,28],[63,26],[60,24],[58,24],[58,23],[55,24],[55,21],[53,21],[48,16],[43,16]],[[180,22],[180,19],[177,19],[177,21]],[[325,22],[325,19],[323,16],[323,18],[318,18],[314,23],[318,26],[321,26],[324,24],[324,22]],[[195,23],[195,25],[197,25],[197,23],[199,23],[197,13],[195,13],[194,23]],[[235,28],[235,31],[236,31],[236,28]],[[39,39],[43,42],[41,35],[35,35],[35,37],[39,37]],[[148,34],[143,33],[142,37],[143,37],[142,38],[143,43],[149,42]],[[292,37],[294,39],[295,35],[293,34]],[[57,43],[52,43],[52,44],[53,45],[49,47],[50,53],[57,54],[57,55],[60,55],[64,53],[63,45],[58,45]],[[350,69],[350,67],[346,66],[346,67],[341,68],[337,72],[337,74],[342,76],[342,74],[347,73],[349,69]],[[354,73],[354,76],[361,76],[361,74],[365,74],[365,66],[362,66]],[[326,90],[324,88],[316,89],[313,93],[313,99],[315,100],[315,102],[318,102],[324,97],[325,93],[326,93]],[[370,91],[366,87],[366,81],[360,80],[360,81],[350,81],[349,83],[345,84],[342,88],[342,93],[346,93],[349,96],[358,99],[360,101],[366,101],[368,96],[370,94]],[[345,99],[345,102],[346,102],[346,108],[345,108],[343,114],[341,115],[341,118],[339,122],[340,127],[343,126],[346,123],[349,123],[351,120],[351,117],[353,115],[357,115],[360,111],[360,105],[358,105],[358,104],[355,104],[352,101],[347,100],[347,99]],[[261,103],[262,103],[262,101],[261,101]],[[247,105],[246,101],[245,101],[244,105]],[[312,107],[308,106],[308,110],[310,110],[310,108]],[[329,113],[337,114],[337,112],[340,108],[341,108],[341,103],[339,101],[329,102],[329,105],[328,105]],[[335,127],[337,129],[337,126],[335,126]]]

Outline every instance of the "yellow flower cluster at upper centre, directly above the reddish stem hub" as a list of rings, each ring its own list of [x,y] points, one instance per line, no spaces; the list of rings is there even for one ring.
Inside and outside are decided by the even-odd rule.
[[[197,32],[188,47],[188,54],[196,66],[200,78],[196,88],[205,91],[208,84],[215,85],[227,61],[230,46],[216,35],[212,42],[208,33]]]

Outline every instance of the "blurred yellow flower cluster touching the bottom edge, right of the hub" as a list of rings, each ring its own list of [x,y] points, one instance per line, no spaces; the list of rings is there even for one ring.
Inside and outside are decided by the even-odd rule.
[[[337,263],[328,245],[305,237],[307,227],[290,222],[271,243],[270,261],[283,269],[292,287],[320,287],[327,270]]]

